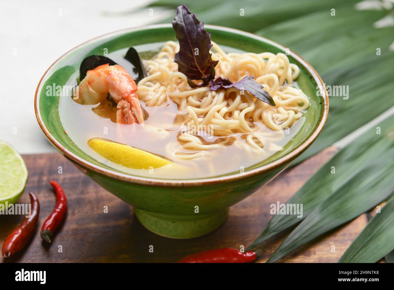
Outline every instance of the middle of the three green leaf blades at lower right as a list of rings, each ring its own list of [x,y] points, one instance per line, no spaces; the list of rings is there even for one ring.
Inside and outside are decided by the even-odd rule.
[[[331,191],[327,197],[315,210],[313,210],[304,221],[302,221],[282,242],[278,249],[272,254],[267,262],[275,262],[305,245],[312,239],[351,221],[361,213],[374,207],[390,196],[393,191],[394,182],[394,116],[387,118],[378,125],[381,134],[377,134],[377,129],[370,129],[361,137],[364,142],[351,142],[344,150],[352,152],[349,155],[342,155],[338,160],[336,154],[331,161],[331,166],[335,166],[335,175],[346,175],[348,181],[336,190]],[[372,157],[372,151],[379,154]],[[359,155],[368,154],[367,163],[359,163]],[[371,155],[370,155],[371,154]],[[373,158],[373,159],[371,159]],[[336,161],[336,162],[332,162]],[[343,171],[342,165],[346,163],[357,163],[359,165],[353,172]],[[312,178],[325,178],[330,175],[326,172],[323,175],[314,174]],[[316,181],[320,182],[320,181]],[[335,183],[335,181],[333,181]],[[385,254],[387,254],[386,252]]]

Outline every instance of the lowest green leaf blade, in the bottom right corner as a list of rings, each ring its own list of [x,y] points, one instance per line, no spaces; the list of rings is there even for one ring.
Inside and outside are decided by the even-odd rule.
[[[394,249],[394,198],[370,220],[338,263],[375,263]]]

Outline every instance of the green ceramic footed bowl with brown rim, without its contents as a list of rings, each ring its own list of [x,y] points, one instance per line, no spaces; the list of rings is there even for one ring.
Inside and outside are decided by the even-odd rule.
[[[281,152],[265,161],[222,176],[192,180],[164,180],[133,176],[107,167],[82,152],[67,136],[59,119],[59,97],[46,96],[46,86],[63,86],[90,54],[114,52],[130,46],[143,47],[176,40],[171,24],[130,28],[89,40],[61,56],[43,75],[35,93],[35,114],[51,144],[76,167],[104,189],[134,206],[146,228],[170,238],[194,238],[219,227],[228,208],[268,183],[312,144],[323,128],[328,113],[324,84],[316,71],[294,52],[263,37],[240,30],[206,25],[219,45],[248,52],[287,53],[301,69],[297,83],[310,98],[306,121]],[[144,46],[145,45],[145,46]],[[198,208],[197,208],[198,207]],[[198,209],[198,213],[196,213]]]

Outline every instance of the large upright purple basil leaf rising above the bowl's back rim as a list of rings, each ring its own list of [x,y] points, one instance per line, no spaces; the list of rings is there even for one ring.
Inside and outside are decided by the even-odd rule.
[[[206,32],[204,23],[198,21],[185,5],[177,8],[172,24],[180,46],[179,52],[175,54],[178,71],[191,80],[202,79],[208,84],[215,77],[214,74],[212,76],[212,66],[217,64],[209,52],[212,47],[210,32]]]

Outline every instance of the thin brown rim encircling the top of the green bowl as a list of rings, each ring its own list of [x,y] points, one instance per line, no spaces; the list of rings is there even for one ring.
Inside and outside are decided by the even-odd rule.
[[[97,172],[99,174],[103,174],[105,176],[108,176],[108,177],[111,177],[111,178],[115,178],[117,180],[131,182],[131,183],[138,183],[138,184],[143,184],[143,185],[155,185],[155,186],[164,186],[164,187],[191,187],[191,186],[201,186],[201,185],[207,185],[207,184],[213,184],[213,183],[221,183],[221,182],[224,182],[224,181],[243,180],[245,178],[249,178],[249,177],[254,176],[256,174],[262,174],[262,173],[268,172],[270,170],[273,170],[275,168],[280,167],[284,163],[288,163],[288,162],[293,161],[296,157],[298,157],[301,153],[303,153],[310,146],[310,144],[312,144],[312,142],[318,137],[318,135],[320,134],[320,132],[323,129],[325,121],[327,120],[329,103],[328,103],[327,90],[325,88],[325,85],[324,85],[322,79],[320,78],[320,76],[318,75],[318,73],[313,69],[313,67],[310,64],[308,64],[308,62],[306,62],[299,55],[297,55],[293,51],[288,50],[288,48],[284,47],[283,45],[280,45],[279,43],[276,43],[276,42],[274,42],[272,40],[266,39],[266,38],[261,37],[261,36],[256,36],[255,34],[251,34],[249,32],[244,32],[242,30],[238,30],[238,29],[234,29],[234,28],[227,28],[227,27],[223,27],[223,26],[216,26],[216,25],[205,25],[205,27],[208,28],[208,29],[212,28],[212,29],[216,29],[216,30],[232,32],[234,34],[240,34],[240,35],[247,36],[247,37],[259,40],[259,41],[263,41],[263,42],[268,43],[270,45],[273,45],[273,46],[281,49],[282,51],[286,51],[287,50],[289,52],[289,55],[292,56],[292,58],[296,59],[298,62],[300,62],[305,67],[305,69],[307,69],[307,71],[310,73],[310,75],[312,75],[312,77],[316,81],[316,84],[318,84],[319,88],[323,88],[323,91],[321,91],[321,93],[322,93],[321,98],[323,100],[323,107],[322,107],[322,110],[320,112],[318,123],[315,126],[313,132],[310,133],[310,135],[297,148],[293,149],[292,152],[288,153],[287,155],[285,155],[285,156],[283,156],[283,157],[281,157],[281,158],[279,158],[279,159],[277,159],[277,160],[275,160],[275,161],[273,161],[271,163],[268,163],[266,165],[263,165],[261,167],[255,168],[255,169],[248,170],[248,171],[246,171],[244,173],[236,173],[236,174],[231,174],[231,175],[222,176],[222,177],[199,178],[199,179],[192,179],[192,180],[177,180],[177,179],[171,180],[171,179],[158,179],[158,178],[138,177],[138,176],[134,176],[134,175],[126,174],[126,173],[120,173],[120,172],[116,172],[116,171],[113,171],[113,170],[110,170],[110,169],[102,168],[102,167],[100,167],[98,165],[95,165],[93,163],[85,161],[84,159],[82,159],[78,155],[70,152],[63,145],[61,145],[54,137],[52,137],[52,135],[49,133],[48,129],[46,129],[43,121],[41,120],[40,113],[37,110],[37,94],[38,94],[38,90],[39,90],[40,84],[43,81],[44,77],[46,76],[48,71],[59,60],[61,60],[64,56],[66,56],[70,52],[74,51],[74,49],[84,45],[85,43],[89,43],[89,42],[91,42],[93,40],[97,40],[97,39],[100,39],[102,37],[106,37],[106,36],[110,36],[110,35],[116,36],[117,34],[122,34],[122,33],[126,32],[126,31],[127,32],[133,32],[133,31],[138,31],[138,30],[142,30],[142,29],[167,28],[167,27],[169,28],[169,27],[172,27],[172,26],[171,26],[171,24],[154,24],[154,25],[147,25],[147,26],[138,26],[138,27],[133,27],[133,28],[125,28],[125,29],[117,30],[117,31],[110,32],[110,33],[107,33],[107,34],[103,34],[101,36],[98,36],[98,37],[92,38],[92,39],[90,39],[88,41],[85,41],[84,43],[81,43],[80,45],[78,45],[78,46],[74,47],[73,49],[67,51],[65,54],[60,56],[46,70],[44,75],[41,77],[40,82],[38,83],[37,90],[35,91],[34,110],[35,110],[35,116],[37,118],[37,121],[38,121],[41,129],[43,130],[46,138],[48,138],[48,140],[52,143],[53,146],[55,146],[55,148],[58,151],[60,151],[68,159],[71,159],[72,161],[74,161],[78,165],[81,165],[82,167],[85,167],[85,168],[87,168],[89,170],[93,170],[94,172]]]

